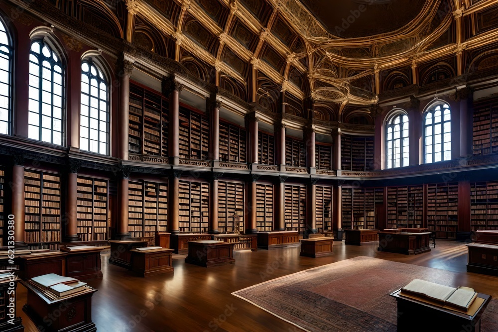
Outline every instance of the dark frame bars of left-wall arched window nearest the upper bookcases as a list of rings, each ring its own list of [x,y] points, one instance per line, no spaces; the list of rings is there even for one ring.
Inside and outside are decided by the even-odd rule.
[[[89,65],[89,69],[88,69],[88,72],[87,73],[84,73],[83,72],[83,69],[82,69],[82,66],[84,63],[88,63]],[[96,68],[96,70],[98,71],[97,75],[93,75],[91,73],[91,66],[94,66]],[[99,73],[102,75],[102,78],[99,76]],[[98,59],[95,59],[94,57],[85,57],[81,60],[81,65],[80,65],[80,75],[81,75],[81,80],[80,80],[80,111],[79,111],[79,114],[78,114],[78,122],[79,122],[79,146],[80,146],[80,150],[82,151],[85,151],[85,152],[89,152],[89,153],[95,153],[95,154],[100,154],[100,155],[104,155],[104,156],[109,156],[110,153],[111,153],[111,89],[110,89],[110,79],[108,77],[108,75],[106,74],[106,71],[104,70],[103,66],[101,65],[101,62],[98,60]],[[88,95],[86,93],[83,92],[83,75],[87,75],[87,77],[89,78],[88,80],[88,85],[89,87],[91,86],[91,80],[92,78],[96,78],[97,79],[97,91],[100,90],[100,84],[101,83],[104,83],[106,85],[106,104],[107,104],[107,107],[106,107],[106,113],[107,113],[107,123],[106,123],[106,152],[105,153],[101,153],[101,152],[96,152],[96,151],[91,151],[90,150],[90,141],[91,141],[91,138],[90,138],[90,132],[91,132],[91,129],[92,129],[92,126],[90,125],[90,121],[91,121],[91,116],[90,116],[90,98],[92,97],[92,94],[90,93],[90,90],[89,90],[89,93]],[[88,117],[88,149],[82,149],[81,148],[81,140],[82,138],[85,138],[85,137],[82,137],[82,129],[83,128],[87,128],[87,127],[83,127],[82,125],[82,121],[81,121],[81,117],[82,117],[82,106],[83,106],[83,95],[86,95],[88,97],[88,115],[86,115]],[[99,92],[99,95],[100,95],[100,92]],[[100,99],[100,96],[98,97],[98,102],[100,103],[101,101],[103,101],[102,99]],[[99,122],[100,121],[100,108],[98,109],[98,114],[99,114],[99,118],[97,119],[97,121]],[[100,151],[100,144],[103,143],[101,141],[101,137],[100,137],[100,129],[97,129],[97,132],[99,134],[99,138],[97,140],[97,150]]]

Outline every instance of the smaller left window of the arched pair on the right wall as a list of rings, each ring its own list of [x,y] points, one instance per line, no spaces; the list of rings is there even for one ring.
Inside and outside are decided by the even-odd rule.
[[[386,133],[387,168],[408,166],[408,115],[401,113],[391,117]]]

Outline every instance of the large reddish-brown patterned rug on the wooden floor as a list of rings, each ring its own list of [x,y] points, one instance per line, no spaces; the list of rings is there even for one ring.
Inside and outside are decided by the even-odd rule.
[[[390,293],[413,279],[453,285],[456,273],[360,256],[269,280],[232,293],[305,331],[396,331]],[[498,331],[498,301],[481,318]]]

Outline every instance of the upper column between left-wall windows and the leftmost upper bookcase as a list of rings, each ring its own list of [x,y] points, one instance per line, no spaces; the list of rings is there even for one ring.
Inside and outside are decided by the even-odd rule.
[[[133,62],[126,55],[119,64],[120,104],[119,104],[119,157],[128,160],[128,127],[129,127],[129,77],[133,71]],[[127,196],[127,195],[126,195]]]

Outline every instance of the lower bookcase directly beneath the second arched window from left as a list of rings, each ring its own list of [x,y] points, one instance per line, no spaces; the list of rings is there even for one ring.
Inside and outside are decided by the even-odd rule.
[[[30,249],[59,248],[60,175],[24,170],[24,218],[24,238]]]

